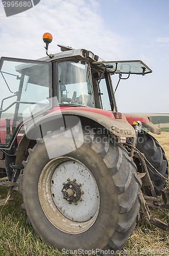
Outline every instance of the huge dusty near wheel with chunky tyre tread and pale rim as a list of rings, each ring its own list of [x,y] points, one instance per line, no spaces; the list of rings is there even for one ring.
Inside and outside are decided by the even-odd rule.
[[[70,139],[38,140],[25,162],[23,202],[46,243],[63,253],[68,248],[99,254],[94,250],[100,248],[113,255],[139,219],[140,181],[125,148],[98,135],[84,140],[75,151],[53,159],[46,148],[69,147]]]

